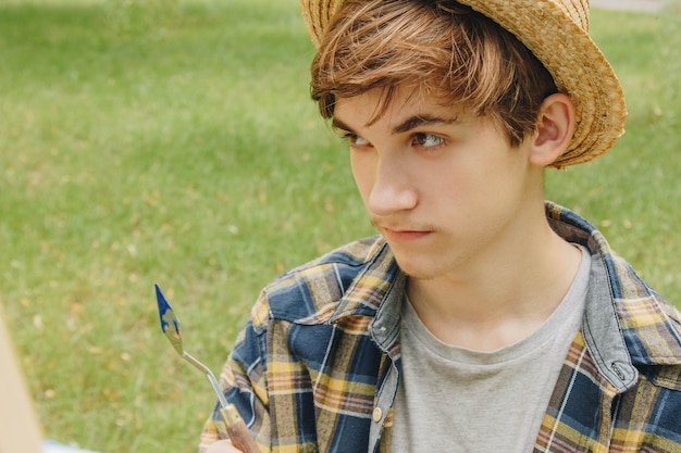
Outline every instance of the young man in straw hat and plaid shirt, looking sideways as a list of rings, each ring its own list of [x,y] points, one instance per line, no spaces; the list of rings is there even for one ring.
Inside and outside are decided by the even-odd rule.
[[[679,312],[544,202],[622,133],[586,2],[301,5],[380,236],[253,307],[222,380],[260,449],[681,452]],[[201,451],[237,451],[219,420]]]

